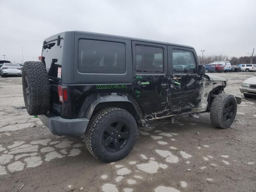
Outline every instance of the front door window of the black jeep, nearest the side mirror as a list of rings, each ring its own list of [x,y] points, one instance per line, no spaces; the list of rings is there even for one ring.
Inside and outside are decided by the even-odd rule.
[[[174,73],[196,73],[196,60],[191,51],[172,50],[172,70]]]

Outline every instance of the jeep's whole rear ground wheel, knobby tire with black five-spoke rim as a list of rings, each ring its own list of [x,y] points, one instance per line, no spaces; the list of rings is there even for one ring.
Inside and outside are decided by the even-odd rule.
[[[110,107],[97,112],[85,132],[89,152],[103,162],[121,160],[134,147],[137,123],[128,111]]]

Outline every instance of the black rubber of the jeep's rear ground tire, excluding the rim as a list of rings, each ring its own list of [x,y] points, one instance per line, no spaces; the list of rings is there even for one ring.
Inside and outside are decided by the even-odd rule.
[[[130,136],[126,145],[121,148],[121,150],[117,152],[109,152],[102,144],[102,134],[105,128],[111,124],[111,122],[118,119],[122,119],[127,126],[130,126]],[[132,114],[121,108],[105,108],[97,112],[90,119],[89,125],[85,132],[86,148],[92,154],[92,156],[103,162],[118,161],[126,157],[134,147],[137,132],[137,123]]]

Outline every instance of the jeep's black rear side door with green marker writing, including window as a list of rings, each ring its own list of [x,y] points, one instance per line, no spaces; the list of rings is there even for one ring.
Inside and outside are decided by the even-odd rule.
[[[146,119],[162,116],[167,104],[167,46],[133,41],[133,92]]]

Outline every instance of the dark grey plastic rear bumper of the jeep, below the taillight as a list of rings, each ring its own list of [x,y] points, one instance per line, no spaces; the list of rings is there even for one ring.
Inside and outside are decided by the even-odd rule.
[[[38,115],[42,123],[49,128],[54,135],[82,136],[89,124],[89,119],[64,119],[49,112],[45,115]]]

